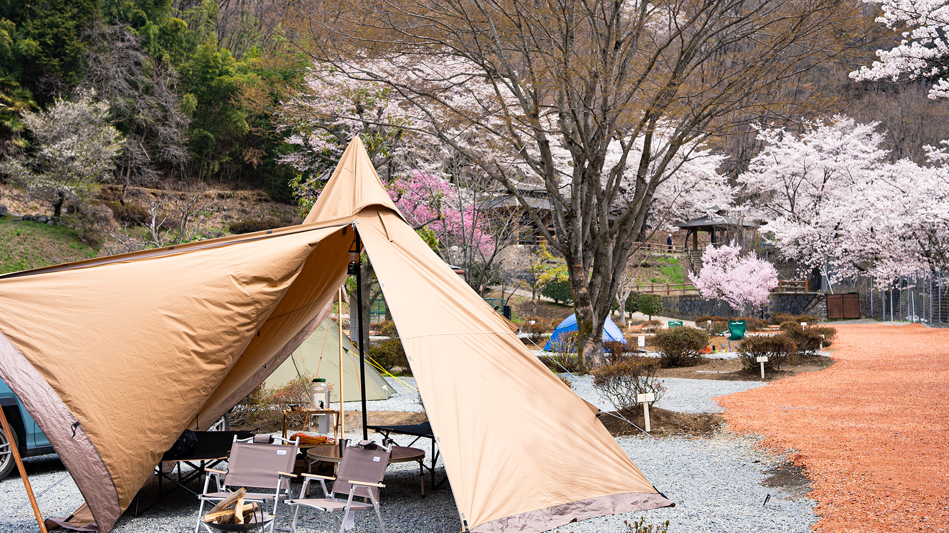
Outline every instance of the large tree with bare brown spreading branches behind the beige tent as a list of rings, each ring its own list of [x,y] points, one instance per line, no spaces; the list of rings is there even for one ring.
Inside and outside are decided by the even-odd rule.
[[[282,24],[321,61],[362,68],[354,76],[399,92],[425,116],[420,130],[518,199],[567,260],[587,358],[602,353],[631,243],[682,148],[793,101],[791,79],[849,46],[839,37],[855,8],[382,0],[342,10],[296,3]],[[380,73],[358,63],[366,57],[397,67]],[[668,141],[654,142],[662,128]],[[613,142],[621,156],[607,165]],[[549,210],[518,188],[524,167],[545,185]]]

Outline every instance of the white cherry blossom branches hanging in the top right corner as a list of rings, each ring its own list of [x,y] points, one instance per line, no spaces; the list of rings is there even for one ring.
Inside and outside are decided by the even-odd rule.
[[[933,82],[929,98],[949,97],[949,5],[934,0],[865,0],[879,4],[884,14],[877,22],[902,30],[902,41],[889,50],[877,50],[870,66],[850,73],[864,81]]]

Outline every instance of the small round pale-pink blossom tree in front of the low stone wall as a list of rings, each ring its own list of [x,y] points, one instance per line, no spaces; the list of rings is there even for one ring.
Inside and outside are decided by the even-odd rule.
[[[724,300],[735,310],[748,305],[760,308],[768,303],[771,289],[777,286],[777,270],[757,257],[740,255],[741,247],[731,245],[705,248],[698,276],[690,273],[692,283],[708,300]]]

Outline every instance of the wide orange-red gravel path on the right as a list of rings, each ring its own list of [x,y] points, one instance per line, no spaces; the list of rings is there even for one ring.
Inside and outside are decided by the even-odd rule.
[[[949,529],[949,329],[838,330],[827,370],[717,398],[730,428],[796,451],[815,531]]]

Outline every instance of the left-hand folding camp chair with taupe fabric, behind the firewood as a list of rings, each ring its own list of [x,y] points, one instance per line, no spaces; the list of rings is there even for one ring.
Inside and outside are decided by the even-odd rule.
[[[280,444],[280,442],[286,444]],[[205,469],[209,475],[204,479],[204,490],[197,496],[201,505],[197,509],[195,533],[198,533],[201,528],[204,504],[220,502],[239,487],[264,489],[261,492],[247,492],[244,494],[244,501],[257,503],[263,509],[270,500],[273,500],[273,511],[270,514],[275,516],[279,501],[290,497],[289,480],[296,477],[291,472],[296,462],[298,444],[299,439],[289,441],[270,435],[256,435],[242,441],[234,436],[231,458],[228,459],[228,471]],[[212,476],[214,476],[216,490],[208,489]],[[274,523],[275,521],[270,523],[270,533],[273,533]],[[208,528],[207,525],[205,527]],[[208,528],[208,530],[211,529]]]

